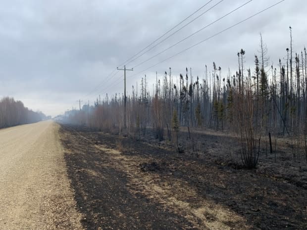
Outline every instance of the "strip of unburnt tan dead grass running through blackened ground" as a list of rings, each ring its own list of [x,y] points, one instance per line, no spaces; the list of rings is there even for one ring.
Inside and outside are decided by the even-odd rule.
[[[95,145],[99,150],[109,154],[114,162],[114,167],[128,175],[127,186],[134,194],[142,193],[149,199],[158,201],[161,205],[171,208],[178,214],[186,213],[185,217],[201,230],[230,230],[230,226],[240,226],[241,229],[249,229],[246,220],[229,209],[206,201],[199,197],[200,194],[185,181],[175,180],[172,184],[161,183],[154,174],[141,173],[135,166],[139,163],[148,162],[150,159],[141,156],[126,156],[121,154],[124,151],[120,140],[116,141],[116,149],[107,148],[104,145]],[[217,186],[225,188],[224,184],[217,183]],[[202,203],[195,206],[186,201],[187,197],[198,197]],[[210,217],[210,218],[209,218]],[[212,221],[214,220],[214,221]],[[226,222],[226,224],[225,224]]]

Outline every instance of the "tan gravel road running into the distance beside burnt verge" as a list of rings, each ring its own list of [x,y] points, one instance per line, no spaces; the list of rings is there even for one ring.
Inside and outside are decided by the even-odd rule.
[[[59,126],[0,130],[0,230],[80,230]]]

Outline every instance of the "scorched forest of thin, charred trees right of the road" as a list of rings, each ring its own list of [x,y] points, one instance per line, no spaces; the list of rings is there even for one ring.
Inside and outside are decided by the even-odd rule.
[[[256,167],[261,144],[272,153],[271,135],[288,137],[293,159],[307,161],[307,51],[306,47],[293,50],[289,29],[289,47],[276,66],[270,65],[260,34],[253,69],[245,67],[245,56],[252,54],[244,49],[234,55],[238,60],[234,75],[230,70],[222,73],[214,61],[205,65],[202,78],[193,76],[191,68],[183,68],[179,76],[169,68],[162,79],[156,73],[153,86],[148,86],[145,75],[140,90],[133,87],[126,98],[106,95],[93,106],[85,104],[81,111],[67,113],[68,121],[139,138],[151,130],[156,139],[171,141],[179,152],[183,127],[189,135],[190,129],[231,132],[239,139],[242,162],[248,168]]]

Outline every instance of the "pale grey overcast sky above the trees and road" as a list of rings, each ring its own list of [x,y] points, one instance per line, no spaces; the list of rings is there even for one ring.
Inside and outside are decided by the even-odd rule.
[[[76,100],[123,92],[123,72],[108,75],[131,56],[151,44],[209,0],[0,0],[0,96],[22,100],[25,106],[55,116],[78,107]],[[220,0],[212,0],[179,29]],[[139,63],[205,27],[248,0],[222,0],[178,33],[127,64],[127,91],[155,71],[161,77],[172,68],[174,77],[192,68],[203,77],[205,64],[222,68],[222,75],[237,67],[238,50],[246,51],[245,65],[254,68],[259,32],[268,48],[270,63],[277,65],[290,45],[294,51],[307,45],[307,1],[285,0],[248,21],[207,40],[153,68],[139,73],[179,51],[255,14],[279,0],[253,0],[177,46]],[[171,34],[170,32],[169,34]],[[169,35],[168,34],[168,35]],[[166,37],[166,36],[165,36]],[[165,38],[163,37],[163,38]],[[276,66],[277,67],[277,66]]]

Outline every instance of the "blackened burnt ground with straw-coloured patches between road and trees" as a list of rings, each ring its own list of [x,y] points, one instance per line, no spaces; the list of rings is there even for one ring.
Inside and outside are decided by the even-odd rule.
[[[295,167],[267,161],[244,169],[232,138],[198,135],[205,151],[177,153],[87,128],[62,125],[60,135],[88,230],[307,229],[307,172],[289,177]]]

